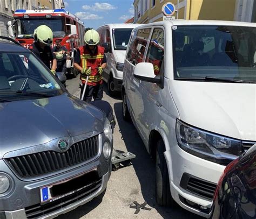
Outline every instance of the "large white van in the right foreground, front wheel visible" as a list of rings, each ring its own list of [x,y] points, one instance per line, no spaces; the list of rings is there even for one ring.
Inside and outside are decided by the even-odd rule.
[[[225,166],[256,142],[256,24],[137,27],[122,95],[124,119],[156,160],[157,202],[209,217]]]

